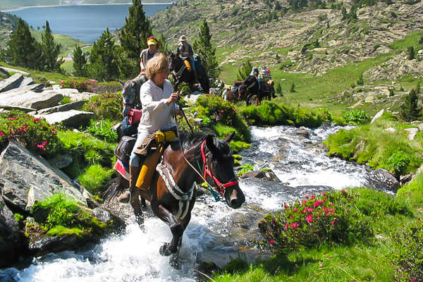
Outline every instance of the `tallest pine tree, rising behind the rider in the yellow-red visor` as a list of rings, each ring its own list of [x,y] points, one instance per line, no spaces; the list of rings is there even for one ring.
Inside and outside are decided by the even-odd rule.
[[[148,47],[146,40],[152,35],[152,27],[142,9],[141,0],[133,0],[133,5],[128,10],[129,17],[125,18],[119,40],[130,60],[130,73],[135,76],[140,73],[140,54],[142,49]]]

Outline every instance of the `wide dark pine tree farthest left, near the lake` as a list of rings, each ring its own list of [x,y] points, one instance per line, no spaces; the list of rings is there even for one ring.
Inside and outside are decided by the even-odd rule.
[[[13,66],[25,68],[42,68],[40,60],[42,57],[39,43],[32,37],[29,25],[25,20],[19,18],[16,30],[12,32],[7,42],[6,57],[8,63]]]

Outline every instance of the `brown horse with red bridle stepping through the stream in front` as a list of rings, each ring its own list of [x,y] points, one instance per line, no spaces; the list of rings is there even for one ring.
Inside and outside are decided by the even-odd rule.
[[[171,243],[161,246],[161,255],[178,252],[195,203],[195,183],[202,183],[205,178],[209,186],[214,187],[222,200],[233,209],[238,209],[245,202],[233,172],[232,150],[228,145],[233,135],[225,140],[216,140],[214,135],[202,134],[192,137],[191,141],[171,142],[164,150],[162,164],[168,168],[174,182],[160,171],[154,175],[149,190],[137,190],[142,198],[150,202],[154,215],[171,228],[173,238]],[[128,180],[119,176],[117,183],[104,193],[104,198],[109,200],[126,187],[129,187]],[[138,223],[143,223],[138,195],[133,193],[130,204]]]

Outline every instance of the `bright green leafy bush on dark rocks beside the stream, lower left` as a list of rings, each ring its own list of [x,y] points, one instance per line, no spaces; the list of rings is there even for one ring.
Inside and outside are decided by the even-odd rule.
[[[44,231],[61,226],[59,230],[61,229],[62,234],[68,228],[78,228],[82,233],[101,233],[102,228],[106,226],[105,223],[98,221],[81,209],[75,200],[71,200],[60,193],[45,201],[36,202],[31,209],[31,213]],[[59,230],[52,231],[52,233],[56,234]]]

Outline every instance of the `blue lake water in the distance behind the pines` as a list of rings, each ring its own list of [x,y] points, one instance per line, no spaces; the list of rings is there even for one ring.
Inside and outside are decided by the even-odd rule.
[[[57,6],[49,8],[25,8],[11,11],[13,15],[23,18],[34,29],[42,27],[49,21],[51,30],[57,34],[69,35],[83,42],[92,44],[109,27],[114,31],[123,27],[125,17],[129,16],[130,5],[96,5],[96,6]],[[143,5],[147,16],[164,10],[168,4]]]

